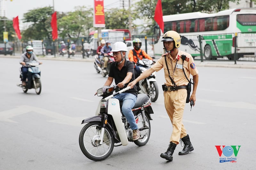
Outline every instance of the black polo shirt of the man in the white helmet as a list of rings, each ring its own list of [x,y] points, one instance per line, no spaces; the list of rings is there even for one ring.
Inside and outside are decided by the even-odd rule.
[[[120,83],[120,82],[122,82],[124,80],[124,78],[126,77],[128,72],[132,73],[132,79],[129,81],[129,83],[130,83],[130,82],[132,82],[135,79],[135,76],[134,76],[134,64],[132,62],[130,62],[130,61],[127,61],[125,59],[124,60],[124,66],[122,67],[121,70],[119,70],[117,68],[117,62],[111,63],[108,76],[109,77],[113,77],[115,79],[115,83],[117,85],[118,83]],[[126,84],[126,86],[128,84]],[[124,86],[124,88],[126,86]],[[121,88],[121,89],[123,89],[123,88]],[[137,96],[137,94],[138,94],[136,85],[134,85],[132,89],[129,89],[128,91],[125,91],[125,92],[126,93],[132,93],[135,96]]]

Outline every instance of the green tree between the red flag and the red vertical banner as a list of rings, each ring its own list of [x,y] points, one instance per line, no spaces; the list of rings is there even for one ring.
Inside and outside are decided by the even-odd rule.
[[[76,7],[76,11],[68,12],[58,20],[59,36],[62,38],[78,39],[82,34],[93,26],[93,13],[92,8],[86,8],[84,6]]]

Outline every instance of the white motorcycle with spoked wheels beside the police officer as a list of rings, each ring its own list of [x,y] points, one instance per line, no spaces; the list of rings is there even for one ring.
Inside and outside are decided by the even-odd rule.
[[[135,121],[140,130],[140,138],[132,140],[132,129],[129,127],[125,116],[121,113],[118,99],[113,96],[130,89],[128,86],[113,94],[117,86],[104,86],[97,90],[97,95],[102,96],[95,116],[84,119],[87,123],[79,135],[79,145],[84,155],[94,161],[107,159],[115,146],[127,145],[128,141],[134,142],[138,146],[148,143],[150,137],[150,114],[153,114],[151,108],[150,96],[147,94],[138,94],[137,101],[132,108]]]

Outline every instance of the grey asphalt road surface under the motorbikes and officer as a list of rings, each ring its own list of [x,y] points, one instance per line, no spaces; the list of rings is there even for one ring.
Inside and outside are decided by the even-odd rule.
[[[19,59],[0,58],[0,169],[255,169],[255,69],[207,67],[198,64],[196,106],[185,108],[183,123],[195,148],[172,162],[160,158],[169,144],[171,122],[163,92],[152,103],[151,137],[145,146],[115,147],[100,162],[87,159],[79,148],[81,121],[95,114],[94,93],[107,78],[92,62],[44,60],[40,65],[42,92],[23,93]],[[163,70],[156,73],[161,89]],[[221,157],[215,145],[241,146],[235,156]],[[220,159],[236,158],[236,162]]]

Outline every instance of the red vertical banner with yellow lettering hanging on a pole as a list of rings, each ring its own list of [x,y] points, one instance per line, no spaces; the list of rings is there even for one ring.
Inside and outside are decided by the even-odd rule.
[[[103,0],[94,0],[93,26],[105,27]]]

